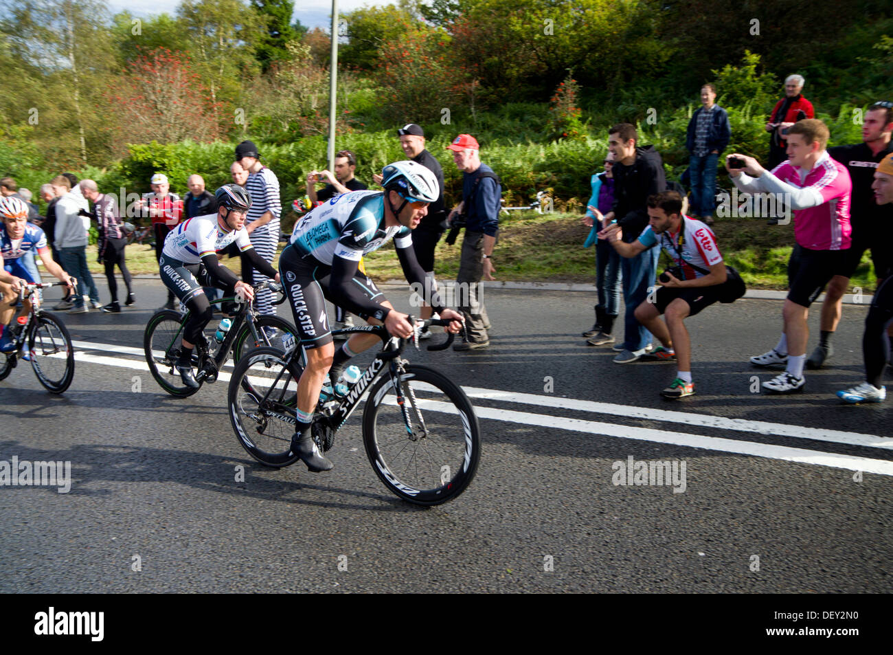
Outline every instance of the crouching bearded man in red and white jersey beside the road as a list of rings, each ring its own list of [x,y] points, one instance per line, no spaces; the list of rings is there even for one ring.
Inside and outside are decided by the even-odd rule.
[[[661,391],[664,398],[683,398],[695,392],[691,380],[691,340],[683,321],[723,298],[726,267],[714,233],[705,223],[682,214],[682,197],[663,191],[648,197],[648,226],[631,243],[622,241],[620,225],[598,233],[624,257],[634,257],[660,245],[675,263],[658,278],[661,288],[636,307],[636,319],[662,346],[640,357],[643,361],[676,359],[676,379]],[[677,274],[679,277],[677,277]],[[664,315],[666,323],[661,320]]]

